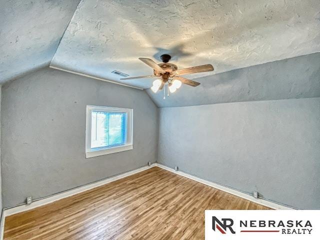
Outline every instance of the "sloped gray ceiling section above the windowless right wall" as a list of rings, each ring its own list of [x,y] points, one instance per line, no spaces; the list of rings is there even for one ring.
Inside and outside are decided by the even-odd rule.
[[[183,85],[163,99],[146,91],[159,107],[222,102],[320,97],[320,53],[249,66],[201,77],[196,87]]]

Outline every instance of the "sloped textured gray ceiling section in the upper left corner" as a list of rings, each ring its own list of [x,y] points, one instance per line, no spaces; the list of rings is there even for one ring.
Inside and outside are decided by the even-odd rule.
[[[79,0],[0,0],[0,84],[48,65]]]

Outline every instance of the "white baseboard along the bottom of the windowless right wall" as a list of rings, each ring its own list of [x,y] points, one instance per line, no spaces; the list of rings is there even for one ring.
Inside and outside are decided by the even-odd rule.
[[[255,203],[258,203],[260,205],[263,205],[263,206],[267,206],[267,207],[270,207],[272,209],[276,209],[276,210],[295,210],[294,208],[291,208],[289,206],[285,206],[285,205],[281,205],[281,204],[278,204],[278,203],[275,203],[275,202],[272,202],[272,201],[268,201],[268,200],[265,200],[265,199],[262,199],[262,198],[254,198],[252,195],[250,194],[247,194],[247,193],[244,193],[244,192],[241,192],[241,191],[237,191],[235,189],[232,189],[232,188],[229,188],[229,187],[226,187],[226,186],[223,186],[223,185],[220,185],[220,184],[217,184],[217,183],[214,183],[212,181],[208,181],[208,180],[204,180],[200,177],[197,177],[197,176],[193,176],[191,174],[188,174],[188,173],[185,173],[185,172],[182,172],[182,171],[179,171],[179,170],[175,170],[171,167],[168,167],[168,166],[165,166],[165,165],[162,165],[160,163],[156,163],[156,166],[162,168],[162,169],[165,169],[167,171],[171,171],[173,173],[176,173],[178,175],[181,175],[181,176],[184,176],[184,177],[187,177],[189,179],[192,179],[192,180],[195,180],[195,181],[198,181],[200,183],[203,183],[205,185],[208,185],[208,186],[211,186],[211,187],[214,187],[214,188],[217,188],[219,190],[222,190],[222,191],[225,191],[225,192],[228,192],[232,195],[236,195],[236,196],[239,196],[241,198],[244,198],[246,200],[249,200],[249,201],[253,201]]]

